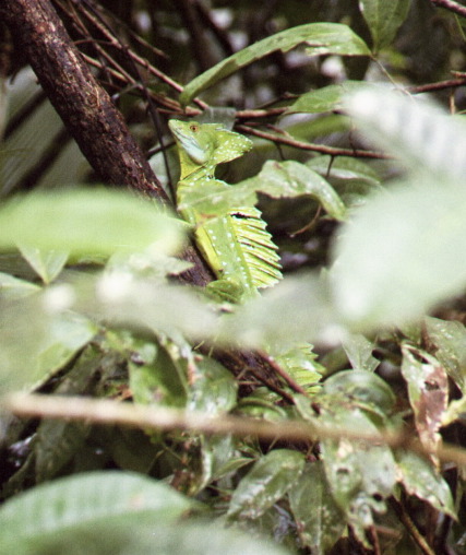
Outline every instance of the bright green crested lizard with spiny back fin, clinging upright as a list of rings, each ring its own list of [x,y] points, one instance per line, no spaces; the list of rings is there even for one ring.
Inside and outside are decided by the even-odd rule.
[[[168,125],[181,166],[177,204],[188,205],[181,215],[194,226],[196,245],[217,278],[211,290],[241,302],[256,295],[258,288],[275,284],[282,278],[277,247],[255,206],[231,206],[227,213],[215,214],[215,209],[205,213],[184,202],[193,187],[218,192],[230,187],[215,179],[215,168],[244,154],[252,142],[217,123],[170,120]]]

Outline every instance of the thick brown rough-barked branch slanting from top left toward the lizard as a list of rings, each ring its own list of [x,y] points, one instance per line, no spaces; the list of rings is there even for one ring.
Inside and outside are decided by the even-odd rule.
[[[121,114],[84,63],[50,2],[4,0],[0,19],[97,174],[165,200]]]

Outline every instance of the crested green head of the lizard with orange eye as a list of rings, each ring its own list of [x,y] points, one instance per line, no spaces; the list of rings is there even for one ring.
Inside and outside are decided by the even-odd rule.
[[[182,153],[198,166],[229,162],[244,154],[252,147],[248,138],[228,131],[219,123],[198,123],[171,119],[168,126]]]

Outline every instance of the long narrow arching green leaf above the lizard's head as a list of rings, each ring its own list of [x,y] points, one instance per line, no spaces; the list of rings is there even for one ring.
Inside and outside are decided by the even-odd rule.
[[[188,104],[199,93],[222,79],[268,54],[280,50],[287,52],[298,45],[307,45],[309,56],[335,54],[339,56],[369,56],[365,42],[348,26],[338,23],[309,23],[282,31],[271,37],[259,40],[239,52],[220,61],[189,83],[180,95],[180,102]]]

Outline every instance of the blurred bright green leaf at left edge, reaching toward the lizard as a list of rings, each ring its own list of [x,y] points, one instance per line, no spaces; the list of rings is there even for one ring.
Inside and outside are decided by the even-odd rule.
[[[0,210],[0,249],[26,244],[74,256],[148,247],[172,253],[182,245],[186,229],[183,222],[162,213],[155,203],[116,190],[34,193]]]

